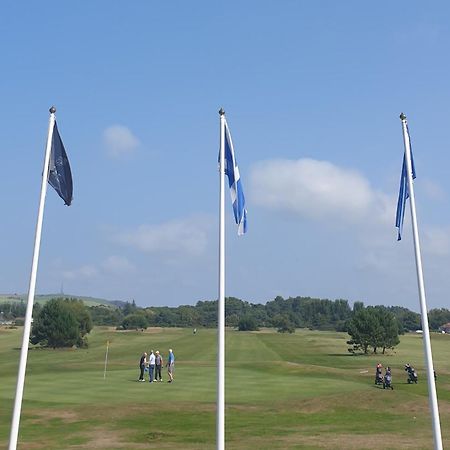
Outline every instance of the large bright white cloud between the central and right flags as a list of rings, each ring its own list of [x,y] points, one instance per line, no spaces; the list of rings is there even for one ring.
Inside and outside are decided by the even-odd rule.
[[[357,171],[309,158],[257,163],[251,193],[261,206],[311,219],[351,223],[370,214],[384,223],[394,214],[393,199],[371,188]]]

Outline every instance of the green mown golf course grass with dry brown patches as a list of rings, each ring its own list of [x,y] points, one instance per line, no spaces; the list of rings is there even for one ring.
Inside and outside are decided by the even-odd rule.
[[[0,445],[8,442],[22,329],[0,328]],[[226,334],[227,449],[431,449],[422,337],[352,356],[345,333]],[[106,342],[109,362],[104,379]],[[444,448],[450,448],[450,336],[433,335]],[[173,348],[175,382],[139,383],[143,351]],[[374,385],[391,366],[394,390]],[[419,383],[408,385],[405,363]],[[147,378],[148,379],[148,378]],[[215,448],[216,330],[95,328],[89,348],[30,348],[22,449]]]

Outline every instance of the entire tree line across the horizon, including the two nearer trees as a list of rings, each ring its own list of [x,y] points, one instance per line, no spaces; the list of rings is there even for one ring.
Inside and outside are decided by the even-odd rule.
[[[87,346],[87,335],[94,325],[118,329],[147,327],[217,326],[217,301],[199,301],[196,305],[141,308],[133,302],[118,306],[87,307],[82,300],[52,299],[33,308],[30,341],[47,347]],[[16,320],[25,315],[24,302],[0,304],[0,319]],[[429,323],[432,330],[450,322],[450,310],[432,309]],[[235,297],[225,299],[225,324],[242,331],[261,327],[292,333],[296,328],[346,331],[349,352],[385,352],[399,343],[399,334],[421,328],[420,315],[404,307],[368,306],[347,300],[311,297],[276,297],[263,304],[253,304]]]

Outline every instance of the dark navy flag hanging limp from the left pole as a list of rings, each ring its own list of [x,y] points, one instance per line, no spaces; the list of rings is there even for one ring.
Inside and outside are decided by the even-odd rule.
[[[73,194],[72,172],[56,122],[53,126],[48,182],[64,200],[64,203],[70,206]]]

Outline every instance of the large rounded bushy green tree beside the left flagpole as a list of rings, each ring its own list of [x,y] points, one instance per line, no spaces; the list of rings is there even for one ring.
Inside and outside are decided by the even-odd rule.
[[[31,343],[48,347],[72,347],[82,340],[80,326],[69,301],[48,301],[33,321]]]

